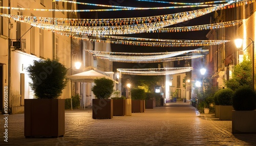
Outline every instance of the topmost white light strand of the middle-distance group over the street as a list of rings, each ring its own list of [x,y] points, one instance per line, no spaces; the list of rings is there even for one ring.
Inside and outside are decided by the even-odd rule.
[[[145,55],[165,55],[165,54],[185,54],[185,53],[201,53],[208,52],[209,50],[186,50],[186,51],[176,51],[176,52],[157,52],[157,53],[130,53],[130,52],[105,52],[105,51],[94,51],[85,50],[91,54],[107,54],[107,55],[126,55],[126,56],[145,56]]]

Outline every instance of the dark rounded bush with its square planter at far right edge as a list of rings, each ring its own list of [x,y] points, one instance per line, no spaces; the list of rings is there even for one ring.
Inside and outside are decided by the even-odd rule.
[[[256,133],[255,91],[248,86],[235,90],[232,105],[232,133]]]

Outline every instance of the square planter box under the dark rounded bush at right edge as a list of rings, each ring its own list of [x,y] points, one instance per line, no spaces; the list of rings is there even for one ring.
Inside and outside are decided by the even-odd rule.
[[[232,111],[232,133],[256,133],[256,111]]]

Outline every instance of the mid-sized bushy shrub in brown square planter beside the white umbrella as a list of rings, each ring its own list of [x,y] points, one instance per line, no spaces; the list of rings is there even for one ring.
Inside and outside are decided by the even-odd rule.
[[[114,81],[100,78],[94,80],[92,91],[97,99],[93,99],[93,118],[112,118],[113,100],[109,99],[114,91]]]

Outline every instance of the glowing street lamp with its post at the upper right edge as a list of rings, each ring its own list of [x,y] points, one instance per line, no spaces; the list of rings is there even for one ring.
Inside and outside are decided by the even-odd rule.
[[[249,39],[251,40],[251,43],[248,46],[252,44],[252,89],[254,90],[254,41],[251,38]],[[243,43],[243,39],[237,38],[236,40],[234,40],[234,43],[236,44],[236,47],[240,49]],[[248,46],[246,46],[246,48]],[[246,48],[243,51],[245,51]]]

